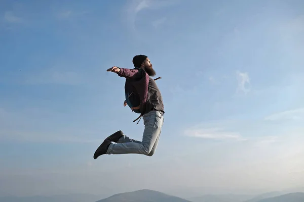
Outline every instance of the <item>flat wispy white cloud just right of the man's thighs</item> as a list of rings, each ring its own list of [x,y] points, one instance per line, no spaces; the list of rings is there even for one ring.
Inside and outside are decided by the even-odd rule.
[[[237,132],[227,132],[219,128],[202,128],[202,129],[187,129],[184,134],[189,137],[198,137],[204,139],[234,139],[246,140]]]

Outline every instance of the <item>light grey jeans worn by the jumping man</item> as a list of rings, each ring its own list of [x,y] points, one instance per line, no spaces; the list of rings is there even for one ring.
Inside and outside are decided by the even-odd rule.
[[[134,140],[124,135],[117,143],[112,142],[110,144],[106,154],[154,155],[164,124],[164,117],[159,111],[150,111],[144,114],[142,118],[144,124],[142,141]]]

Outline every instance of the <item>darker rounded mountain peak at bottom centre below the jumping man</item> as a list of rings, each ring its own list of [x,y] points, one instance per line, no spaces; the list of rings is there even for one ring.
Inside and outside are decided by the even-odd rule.
[[[192,202],[159,191],[141,189],[112,195],[96,202]]]

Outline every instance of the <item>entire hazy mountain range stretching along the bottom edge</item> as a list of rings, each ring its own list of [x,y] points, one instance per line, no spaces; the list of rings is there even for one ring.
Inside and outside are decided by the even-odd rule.
[[[142,189],[102,197],[91,194],[66,194],[52,196],[0,196],[0,202],[304,202],[304,192],[270,192],[246,200],[250,195],[241,194],[206,194],[188,199],[168,195],[159,191]],[[279,194],[279,195],[278,195]],[[243,200],[245,199],[245,200]]]

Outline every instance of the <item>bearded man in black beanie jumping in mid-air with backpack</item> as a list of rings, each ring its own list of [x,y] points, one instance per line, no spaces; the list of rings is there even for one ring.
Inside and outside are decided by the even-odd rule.
[[[135,56],[132,62],[134,69],[114,66],[107,71],[115,72],[118,76],[126,78],[126,101],[124,105],[126,106],[126,103],[129,103],[132,111],[139,113],[139,118],[143,118],[142,141],[131,139],[119,130],[105,138],[96,149],[94,159],[104,154],[152,156],[157,148],[165,112],[162,94],[155,80],[150,77],[155,76],[156,73],[147,56]]]

